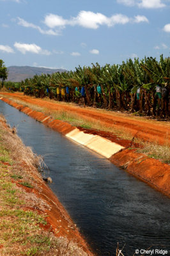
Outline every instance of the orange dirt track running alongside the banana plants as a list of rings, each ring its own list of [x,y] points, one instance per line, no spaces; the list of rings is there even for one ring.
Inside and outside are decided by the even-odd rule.
[[[157,142],[160,145],[170,143],[170,124],[169,122],[158,122],[144,117],[135,117],[125,113],[106,111],[103,109],[81,108],[75,104],[65,102],[54,102],[54,100],[36,99],[23,95],[23,93],[1,92],[5,97],[22,100],[35,106],[49,109],[49,111],[67,111],[93,122],[99,121],[105,127],[129,132],[144,141]]]

